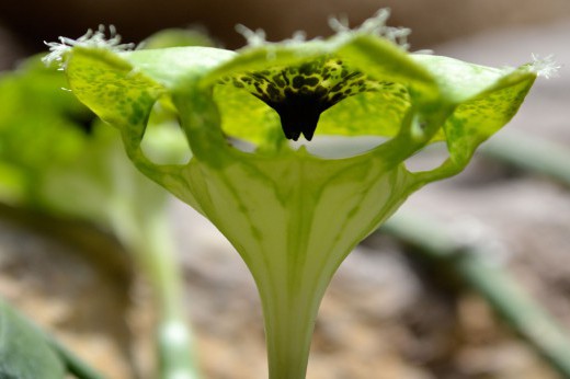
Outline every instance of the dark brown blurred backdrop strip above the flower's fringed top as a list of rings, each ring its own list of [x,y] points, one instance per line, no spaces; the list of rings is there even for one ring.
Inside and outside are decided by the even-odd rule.
[[[567,18],[566,0],[20,0],[0,3],[3,67],[14,57],[43,50],[44,41],[78,37],[99,24],[113,24],[127,42],[137,42],[164,27],[204,27],[228,48],[242,46],[235,25],[263,28],[270,41],[303,30],[308,37],[327,36],[330,15],[346,15],[360,24],[380,8],[390,8],[390,23],[412,28],[414,49],[466,37],[485,31],[524,25],[545,25]],[[10,54],[14,50],[16,54]]]

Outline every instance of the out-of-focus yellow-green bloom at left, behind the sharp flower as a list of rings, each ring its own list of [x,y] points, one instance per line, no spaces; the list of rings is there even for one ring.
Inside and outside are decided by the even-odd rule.
[[[152,217],[164,192],[133,168],[116,130],[65,87],[61,71],[35,58],[0,77],[0,195],[115,231],[128,217]]]

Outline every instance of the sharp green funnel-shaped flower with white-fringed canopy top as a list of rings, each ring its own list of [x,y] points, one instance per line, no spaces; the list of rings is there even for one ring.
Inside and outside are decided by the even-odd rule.
[[[102,46],[98,33],[52,45],[72,92],[121,130],[136,166],[207,217],[247,263],[271,378],[305,377],[319,303],[342,261],[411,193],[460,172],[537,76],[538,65],[494,69],[409,54],[408,31],[385,26],[386,16],[356,30],[334,22],[328,39],[266,43],[244,30],[250,44],[237,53],[124,51],[116,38]],[[145,153],[157,114],[179,120],[186,164]],[[300,147],[289,143],[301,135]],[[384,142],[327,159],[311,152],[314,135]],[[406,168],[442,141],[448,158],[440,166]]]

